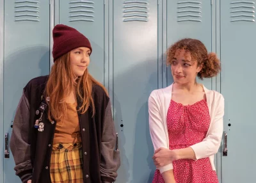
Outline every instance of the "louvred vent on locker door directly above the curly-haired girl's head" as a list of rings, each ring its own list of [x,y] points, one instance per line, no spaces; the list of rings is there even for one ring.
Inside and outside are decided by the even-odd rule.
[[[202,3],[200,1],[179,1],[177,3],[177,22],[202,22]]]

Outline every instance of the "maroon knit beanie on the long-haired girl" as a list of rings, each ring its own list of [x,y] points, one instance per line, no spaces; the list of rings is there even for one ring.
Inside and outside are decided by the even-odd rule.
[[[52,36],[54,61],[77,47],[88,47],[92,53],[92,46],[88,38],[74,28],[58,24],[52,30]]]

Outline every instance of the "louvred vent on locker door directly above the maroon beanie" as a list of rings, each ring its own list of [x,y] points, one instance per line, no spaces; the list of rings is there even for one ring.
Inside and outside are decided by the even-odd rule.
[[[93,1],[70,1],[69,21],[94,22],[94,2]]]

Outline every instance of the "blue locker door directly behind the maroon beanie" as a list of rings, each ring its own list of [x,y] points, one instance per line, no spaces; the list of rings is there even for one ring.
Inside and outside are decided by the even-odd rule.
[[[59,23],[71,26],[86,36],[92,45],[90,74],[104,83],[104,0],[56,1]]]

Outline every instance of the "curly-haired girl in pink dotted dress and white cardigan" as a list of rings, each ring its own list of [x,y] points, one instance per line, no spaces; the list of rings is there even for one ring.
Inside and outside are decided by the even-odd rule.
[[[224,99],[200,79],[220,71],[216,54],[202,42],[183,39],[168,49],[173,84],[148,99],[150,135],[156,164],[154,183],[218,182],[214,154],[223,132]]]

